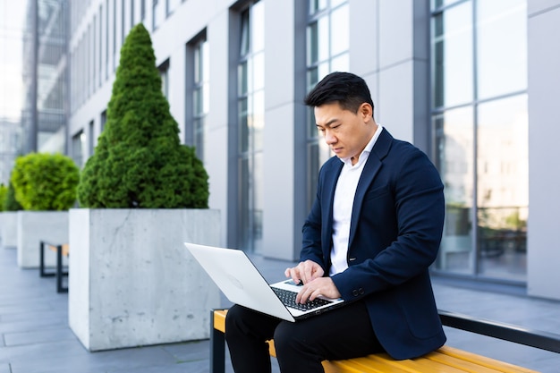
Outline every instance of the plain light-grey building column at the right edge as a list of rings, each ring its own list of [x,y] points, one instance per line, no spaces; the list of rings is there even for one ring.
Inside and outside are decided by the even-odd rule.
[[[560,1],[529,1],[529,221],[527,229],[527,291],[560,300],[560,114],[551,109],[560,97],[560,49],[557,30]]]

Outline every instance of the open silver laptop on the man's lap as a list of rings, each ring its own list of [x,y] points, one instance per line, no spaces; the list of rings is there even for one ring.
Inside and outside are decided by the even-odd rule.
[[[317,298],[306,304],[295,303],[300,286],[292,279],[268,284],[242,250],[217,248],[184,242],[208,276],[233,303],[276,318],[295,322],[335,309],[342,299]]]

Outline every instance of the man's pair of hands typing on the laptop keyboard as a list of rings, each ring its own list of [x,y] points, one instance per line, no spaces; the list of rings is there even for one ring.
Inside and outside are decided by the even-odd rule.
[[[323,268],[311,260],[301,262],[297,267],[287,268],[284,272],[286,277],[292,277],[294,283],[303,282],[303,287],[295,299],[298,303],[313,301],[319,295],[331,299],[340,298],[335,283],[330,277],[323,277],[324,274]]]

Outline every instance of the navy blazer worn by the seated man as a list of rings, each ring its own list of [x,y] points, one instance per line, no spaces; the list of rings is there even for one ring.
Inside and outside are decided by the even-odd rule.
[[[343,162],[319,171],[317,199],[303,225],[301,260],[328,275],[333,200]],[[345,301],[363,300],[379,342],[393,358],[437,350],[445,334],[428,267],[445,216],[443,184],[426,154],[384,128],[364,165],[352,207],[348,269],[333,276]]]

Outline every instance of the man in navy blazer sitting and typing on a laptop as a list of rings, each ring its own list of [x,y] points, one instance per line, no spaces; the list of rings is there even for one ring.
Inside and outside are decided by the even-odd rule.
[[[368,86],[333,72],[310,92],[318,131],[336,157],[321,167],[303,225],[297,301],[318,295],[348,304],[296,323],[233,306],[225,338],[237,373],[323,372],[322,360],[387,352],[409,359],[445,343],[428,267],[444,223],[443,185],[428,157],[373,118]]]

